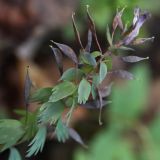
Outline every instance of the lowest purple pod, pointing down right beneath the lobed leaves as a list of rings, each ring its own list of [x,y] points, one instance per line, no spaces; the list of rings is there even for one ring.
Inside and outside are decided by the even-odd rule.
[[[84,148],[88,148],[87,145],[83,142],[82,138],[80,137],[80,135],[73,129],[73,128],[69,128],[69,136],[75,140],[76,142],[78,142],[79,144],[81,144]]]

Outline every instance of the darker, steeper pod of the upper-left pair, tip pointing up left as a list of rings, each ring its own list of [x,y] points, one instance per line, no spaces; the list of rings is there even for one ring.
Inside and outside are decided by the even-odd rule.
[[[62,53],[61,51],[58,49],[58,48],[54,48],[53,46],[51,46],[51,49],[53,51],[53,54],[55,56],[55,59],[56,59],[56,64],[58,66],[58,69],[59,69],[59,72],[60,72],[60,75],[63,74],[63,63],[62,63]]]

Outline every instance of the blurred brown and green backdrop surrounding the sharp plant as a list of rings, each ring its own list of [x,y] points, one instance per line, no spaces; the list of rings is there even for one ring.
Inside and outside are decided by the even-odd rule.
[[[115,68],[133,70],[142,77],[143,82],[140,86],[139,83],[126,82],[128,88],[116,86],[113,89],[110,99],[115,100],[117,106],[115,103],[104,110],[103,126],[98,124],[98,112],[84,109],[75,112],[72,125],[89,145],[88,150],[83,150],[71,140],[65,144],[53,140],[46,143],[43,153],[30,159],[159,160],[159,0],[0,0],[0,118],[17,118],[14,109],[24,108],[26,66],[30,66],[30,77],[36,88],[53,86],[56,83],[59,73],[49,48],[50,40],[67,44],[78,53],[79,46],[75,41],[71,15],[72,12],[76,13],[76,23],[85,44],[87,4],[90,5],[90,13],[104,51],[108,47],[106,26],[112,25],[117,8],[126,7],[122,19],[128,24],[132,22],[133,10],[137,6],[152,14],[141,29],[140,37],[154,36],[155,40],[136,47],[134,52],[138,56],[148,56],[149,60],[136,67],[118,61],[114,64]],[[66,68],[72,65],[67,58],[64,64]],[[127,100],[126,97],[130,94],[133,98]],[[30,106],[30,110],[33,107]],[[117,120],[115,113],[124,120]],[[27,144],[19,148],[22,155],[25,155]],[[7,156],[8,151],[0,155],[4,160]]]

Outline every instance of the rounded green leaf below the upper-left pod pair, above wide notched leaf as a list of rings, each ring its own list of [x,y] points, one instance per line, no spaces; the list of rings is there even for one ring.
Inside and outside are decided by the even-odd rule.
[[[73,80],[80,80],[84,76],[84,73],[80,69],[76,68],[70,68],[66,70],[62,77],[61,80],[66,80],[66,81],[73,81]]]

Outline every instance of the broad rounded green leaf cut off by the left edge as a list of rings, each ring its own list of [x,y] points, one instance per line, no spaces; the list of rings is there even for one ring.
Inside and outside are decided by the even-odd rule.
[[[0,148],[4,151],[15,145],[24,134],[22,124],[17,120],[2,119],[0,120]]]

